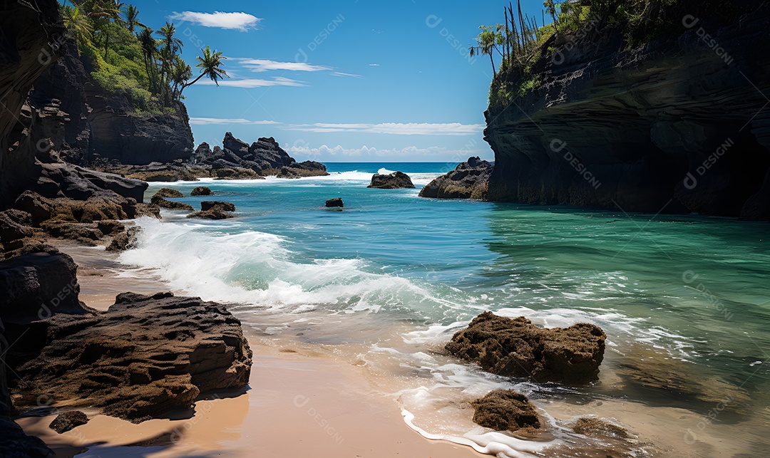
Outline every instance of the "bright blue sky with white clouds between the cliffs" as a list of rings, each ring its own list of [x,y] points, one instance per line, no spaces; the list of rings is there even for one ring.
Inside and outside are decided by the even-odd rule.
[[[176,24],[190,65],[206,45],[228,58],[232,78],[186,89],[196,145],[233,132],[273,136],[298,160],[494,159],[482,133],[492,69],[467,47],[503,22],[504,2],[131,3],[149,27]],[[541,17],[539,0],[524,3]]]

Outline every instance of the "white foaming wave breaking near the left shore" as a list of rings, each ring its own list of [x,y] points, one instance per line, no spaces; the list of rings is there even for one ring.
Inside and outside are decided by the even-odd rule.
[[[124,252],[120,261],[142,272],[150,269],[172,289],[206,300],[287,312],[324,306],[345,313],[434,300],[408,279],[365,271],[362,259],[300,259],[285,239],[237,232],[237,223],[137,221],[139,247]]]

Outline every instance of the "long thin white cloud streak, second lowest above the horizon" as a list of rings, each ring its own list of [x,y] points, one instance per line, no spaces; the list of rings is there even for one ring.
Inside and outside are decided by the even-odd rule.
[[[299,124],[290,125],[286,129],[302,132],[366,132],[372,134],[390,135],[475,135],[482,132],[484,124],[460,124],[450,122],[446,124],[384,122],[381,124]]]

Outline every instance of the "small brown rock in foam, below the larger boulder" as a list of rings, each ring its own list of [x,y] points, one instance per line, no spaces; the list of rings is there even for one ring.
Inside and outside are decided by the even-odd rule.
[[[495,389],[481,399],[476,399],[474,423],[496,431],[516,431],[521,428],[539,428],[540,418],[535,406],[521,393],[513,389]]]

